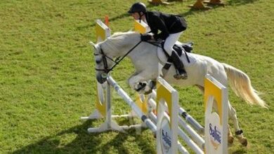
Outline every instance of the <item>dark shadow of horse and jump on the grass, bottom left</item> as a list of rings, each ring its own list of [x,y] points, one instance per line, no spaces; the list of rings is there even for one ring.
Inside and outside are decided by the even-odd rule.
[[[124,146],[124,141],[128,137],[133,137],[134,142],[142,149],[144,153],[155,153],[155,149],[150,143],[145,142],[143,136],[136,134],[135,130],[127,130],[126,133],[115,132],[114,139],[107,142],[101,139],[113,132],[103,132],[98,134],[89,134],[87,128],[91,127],[93,120],[87,120],[82,125],[71,127],[70,129],[59,132],[50,137],[45,137],[34,144],[22,147],[13,154],[18,153],[111,153],[110,149],[116,148],[118,153],[129,153],[128,148]],[[66,135],[74,134],[76,137],[69,144],[62,145],[61,140],[64,140]],[[106,142],[106,144],[104,144]],[[103,145],[102,145],[103,144]]]

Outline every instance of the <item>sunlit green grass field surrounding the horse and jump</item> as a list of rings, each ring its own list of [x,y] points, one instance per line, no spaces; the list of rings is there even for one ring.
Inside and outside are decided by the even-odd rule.
[[[81,121],[94,109],[96,79],[92,48],[96,19],[110,17],[112,31],[128,31],[126,14],[133,0],[0,1],[0,153],[155,153],[150,130],[141,134],[88,134],[101,120]],[[148,4],[147,1],[143,0]],[[249,106],[230,91],[240,125],[249,141],[235,141],[230,153],[274,153],[274,3],[273,0],[224,0],[225,7],[190,10],[195,0],[150,6],[185,16],[181,41],[194,41],[194,52],[246,72],[270,109]],[[133,67],[126,59],[112,72],[129,91]],[[176,87],[180,102],[202,122],[202,94]],[[129,108],[117,94],[114,113]],[[129,124],[128,120],[118,120]]]

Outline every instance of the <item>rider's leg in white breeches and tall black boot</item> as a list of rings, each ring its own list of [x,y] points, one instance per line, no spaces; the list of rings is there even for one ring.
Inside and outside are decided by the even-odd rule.
[[[164,42],[164,50],[167,51],[169,56],[172,59],[172,62],[174,63],[175,68],[177,69],[177,74],[174,75],[174,78],[180,79],[186,79],[188,78],[187,73],[185,72],[183,62],[181,61],[180,57],[178,56],[177,52],[173,50],[173,46],[178,41],[178,38],[181,36],[183,32],[179,32],[176,34],[169,34],[166,41]]]

